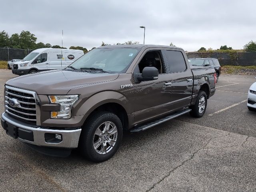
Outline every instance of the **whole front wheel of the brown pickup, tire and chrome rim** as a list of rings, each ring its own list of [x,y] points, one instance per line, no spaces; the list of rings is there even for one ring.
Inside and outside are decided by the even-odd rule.
[[[108,124],[110,132],[104,132]],[[82,156],[88,160],[103,162],[116,153],[122,142],[122,136],[123,127],[118,116],[111,112],[98,112],[91,116],[82,127],[78,147]]]

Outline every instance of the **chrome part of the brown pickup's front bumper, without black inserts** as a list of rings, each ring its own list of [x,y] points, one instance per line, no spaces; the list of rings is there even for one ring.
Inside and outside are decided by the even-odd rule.
[[[61,147],[61,148],[77,148],[78,141],[80,137],[80,133],[82,129],[75,129],[75,130],[58,130],[58,129],[45,129],[41,127],[33,127],[27,126],[25,123],[21,124],[16,119],[8,118],[8,114],[5,116],[5,112],[2,114],[2,119],[17,128],[22,128],[24,130],[32,131],[34,136],[34,141],[24,140],[18,137],[18,140],[30,144],[34,144],[37,146],[46,146],[46,147]],[[61,134],[62,141],[58,143],[53,142],[46,142],[45,134],[53,133],[53,134]]]

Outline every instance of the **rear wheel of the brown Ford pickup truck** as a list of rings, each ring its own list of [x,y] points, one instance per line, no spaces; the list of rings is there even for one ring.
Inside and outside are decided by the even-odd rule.
[[[204,91],[199,91],[196,98],[196,103],[190,106],[190,115],[193,117],[202,117],[207,106],[207,95]]]

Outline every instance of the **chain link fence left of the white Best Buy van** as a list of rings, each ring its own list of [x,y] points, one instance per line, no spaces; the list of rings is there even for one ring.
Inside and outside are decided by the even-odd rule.
[[[23,59],[27,54],[32,51],[32,49],[13,49],[8,47],[0,48],[0,61]]]

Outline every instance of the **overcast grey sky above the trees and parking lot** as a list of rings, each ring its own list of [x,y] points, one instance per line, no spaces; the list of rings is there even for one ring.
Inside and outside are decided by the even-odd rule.
[[[256,40],[255,0],[0,0],[0,30],[28,30],[37,42],[82,46],[128,40],[194,51],[242,49]]]

